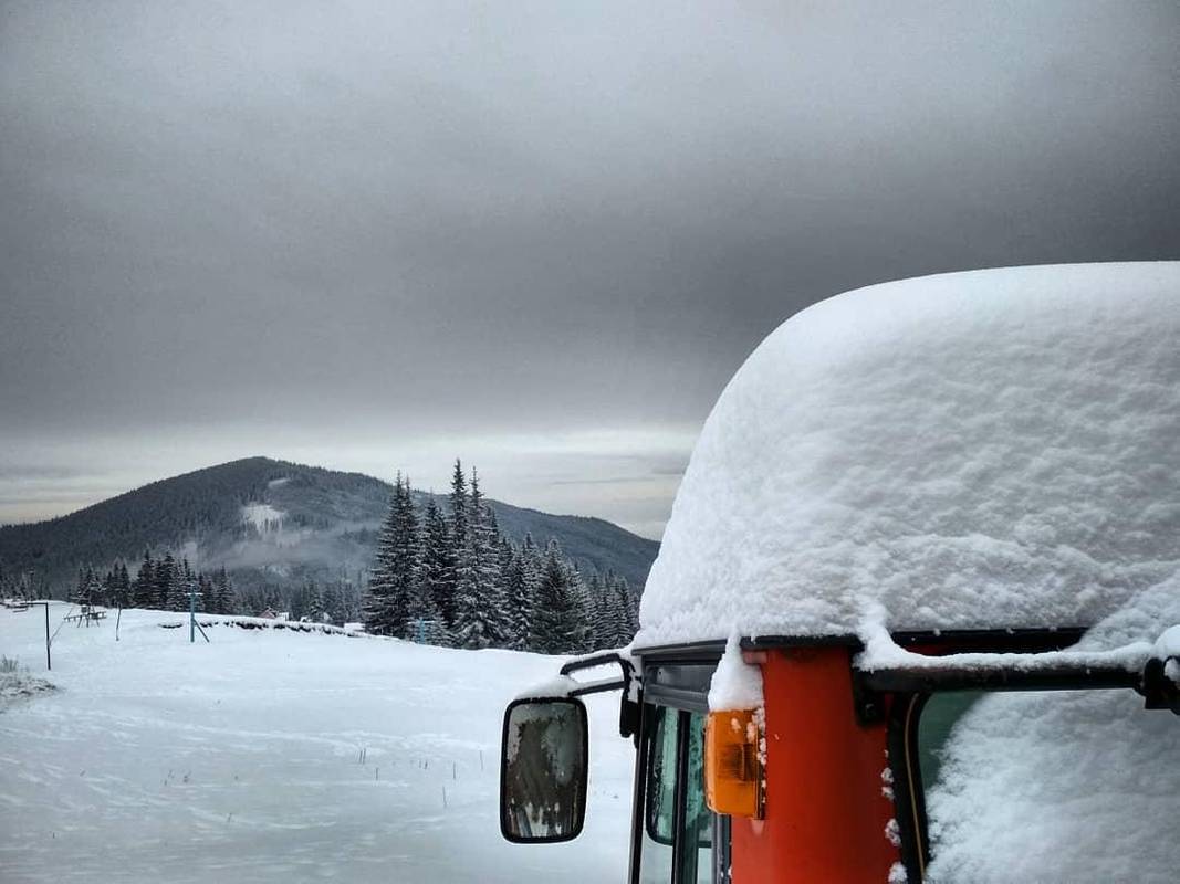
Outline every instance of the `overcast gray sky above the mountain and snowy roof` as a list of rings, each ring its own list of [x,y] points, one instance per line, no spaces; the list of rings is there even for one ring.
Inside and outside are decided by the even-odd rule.
[[[658,536],[808,303],[1180,257],[1178,136],[1173,0],[4,2],[0,521],[459,455]]]

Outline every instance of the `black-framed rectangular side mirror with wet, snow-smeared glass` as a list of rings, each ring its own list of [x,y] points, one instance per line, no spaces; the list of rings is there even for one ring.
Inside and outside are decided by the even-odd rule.
[[[553,697],[513,700],[504,713],[500,832],[517,844],[582,833],[589,757],[586,708]]]

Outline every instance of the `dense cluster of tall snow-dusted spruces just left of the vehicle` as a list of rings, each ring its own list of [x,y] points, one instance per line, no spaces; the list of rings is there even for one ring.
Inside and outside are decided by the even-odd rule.
[[[638,627],[625,579],[584,575],[556,540],[505,537],[479,477],[457,460],[446,510],[419,513],[398,475],[363,602],[367,632],[465,648],[540,653],[620,647]]]

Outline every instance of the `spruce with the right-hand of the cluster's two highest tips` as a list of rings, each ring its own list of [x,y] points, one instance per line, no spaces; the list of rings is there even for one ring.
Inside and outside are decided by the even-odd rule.
[[[503,647],[509,639],[507,602],[491,520],[471,474],[471,501],[466,508],[467,542],[459,552],[455,585],[455,645],[466,648]]]

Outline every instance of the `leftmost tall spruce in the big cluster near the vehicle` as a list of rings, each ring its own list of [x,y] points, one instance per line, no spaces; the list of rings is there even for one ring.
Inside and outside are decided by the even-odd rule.
[[[418,514],[409,483],[398,474],[389,512],[376,541],[376,560],[369,575],[365,628],[378,635],[407,634],[409,600],[421,586],[421,543]]]

